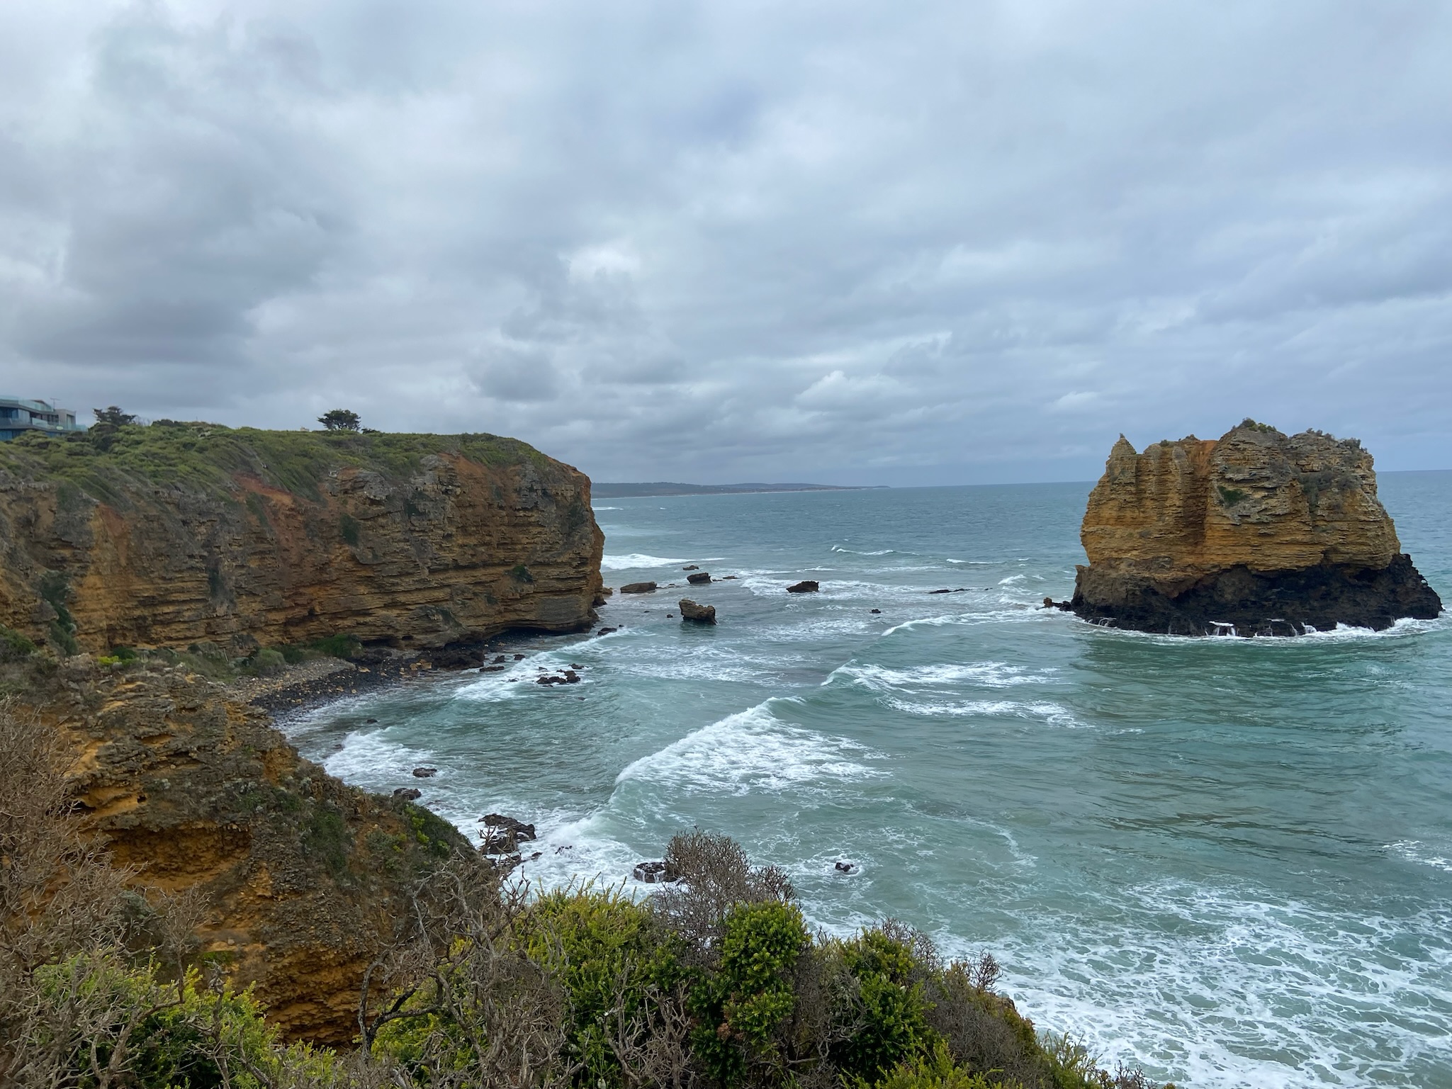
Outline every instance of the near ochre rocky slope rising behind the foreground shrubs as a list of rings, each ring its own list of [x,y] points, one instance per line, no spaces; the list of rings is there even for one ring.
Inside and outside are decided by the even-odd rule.
[[[38,685],[76,754],[87,826],[135,883],[197,889],[203,950],[257,984],[286,1035],[346,1044],[363,971],[408,890],[468,844],[407,802],[301,759],[264,713],[180,666],[109,675],[89,655]]]

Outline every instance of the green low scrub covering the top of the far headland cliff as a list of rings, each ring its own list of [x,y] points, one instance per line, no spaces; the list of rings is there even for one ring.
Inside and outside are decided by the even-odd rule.
[[[229,492],[232,476],[257,476],[273,488],[319,498],[334,469],[372,469],[408,476],[428,454],[456,453],[489,466],[549,459],[527,443],[492,434],[386,434],[263,431],[161,420],[87,433],[29,433],[0,443],[0,469],[29,481],[55,481],[103,502],[119,502],[128,484]]]

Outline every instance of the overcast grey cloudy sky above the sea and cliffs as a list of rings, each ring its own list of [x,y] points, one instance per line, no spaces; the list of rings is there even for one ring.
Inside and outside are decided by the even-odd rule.
[[[0,392],[601,481],[1452,468],[1452,3],[0,7]]]

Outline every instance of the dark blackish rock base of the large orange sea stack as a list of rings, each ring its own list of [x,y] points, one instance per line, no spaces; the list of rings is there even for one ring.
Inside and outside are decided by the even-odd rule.
[[[1403,617],[1433,620],[1442,598],[1395,556],[1379,571],[1321,565],[1262,572],[1237,566],[1170,595],[1138,576],[1079,568],[1076,616],[1098,624],[1159,635],[1294,636],[1336,624],[1382,630]]]

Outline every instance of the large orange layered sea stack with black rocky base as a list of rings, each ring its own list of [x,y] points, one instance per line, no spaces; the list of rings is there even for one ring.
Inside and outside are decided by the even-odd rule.
[[[1442,611],[1355,439],[1246,420],[1135,453],[1119,436],[1079,533],[1086,620],[1169,635],[1390,627]]]

